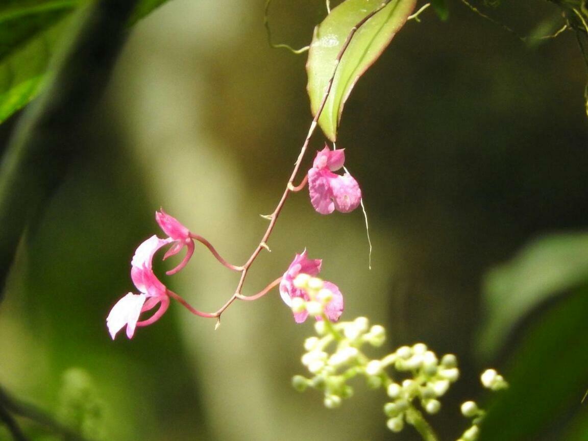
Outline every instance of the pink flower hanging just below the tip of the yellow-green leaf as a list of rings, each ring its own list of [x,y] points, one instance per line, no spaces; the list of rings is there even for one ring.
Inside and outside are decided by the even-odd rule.
[[[310,202],[316,211],[328,215],[337,210],[349,213],[358,208],[362,191],[358,182],[349,173],[336,175],[335,171],[345,163],[345,153],[341,150],[329,150],[325,145],[316,153],[312,168],[308,171],[308,189]]]

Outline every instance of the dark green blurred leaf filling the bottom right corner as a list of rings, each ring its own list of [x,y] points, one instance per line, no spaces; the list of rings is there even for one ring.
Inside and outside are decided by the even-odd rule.
[[[546,429],[569,432],[574,413],[586,412],[580,400],[588,386],[587,310],[583,286],[534,321],[504,372],[510,387],[495,396],[478,441],[562,439],[545,436]]]

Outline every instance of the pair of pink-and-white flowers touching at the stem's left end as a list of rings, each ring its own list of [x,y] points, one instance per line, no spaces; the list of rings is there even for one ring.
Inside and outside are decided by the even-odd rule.
[[[172,245],[163,256],[163,259],[166,259],[186,247],[185,258],[176,268],[168,272],[168,274],[174,274],[186,266],[194,251],[191,233],[177,219],[169,216],[163,210],[155,213],[155,219],[168,237],[161,239],[155,235],[151,236],[136,249],[131,260],[131,279],[139,293],[129,292],[112,307],[106,318],[106,326],[112,339],[125,326],[126,336],[129,339],[132,338],[137,326],[151,325],[151,323],[159,320],[168,309],[169,290],[153,273],[152,266],[155,253],[166,245]],[[156,306],[159,306],[159,308],[150,318],[139,321],[141,313],[152,310]]]

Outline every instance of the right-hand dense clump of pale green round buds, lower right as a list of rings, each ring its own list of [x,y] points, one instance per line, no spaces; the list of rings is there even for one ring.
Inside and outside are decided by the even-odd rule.
[[[429,350],[424,343],[402,346],[383,361],[398,372],[409,375],[402,382],[390,381],[386,387],[386,393],[392,401],[384,405],[384,413],[389,418],[387,426],[392,432],[400,432],[405,421],[410,423],[407,411],[413,407],[415,401],[420,403],[426,413],[439,412],[439,397],[459,377],[455,355],[444,355],[439,361],[435,352]]]

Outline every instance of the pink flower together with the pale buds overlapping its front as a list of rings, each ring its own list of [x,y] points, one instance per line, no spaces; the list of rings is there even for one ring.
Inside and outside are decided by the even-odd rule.
[[[292,308],[296,323],[302,323],[309,314],[317,320],[324,313],[332,322],[343,313],[343,295],[335,283],[316,278],[320,272],[320,259],[308,259],[306,250],[296,254],[280,282],[280,296]]]

